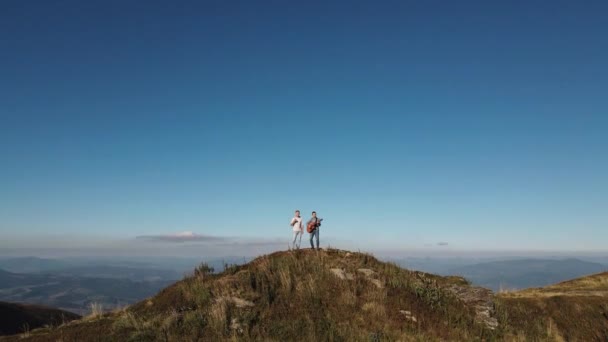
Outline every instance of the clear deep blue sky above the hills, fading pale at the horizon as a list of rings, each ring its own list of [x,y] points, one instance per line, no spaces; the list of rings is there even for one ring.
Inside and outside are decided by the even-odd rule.
[[[605,251],[606,13],[4,1],[0,245],[280,241],[298,208],[338,247]]]

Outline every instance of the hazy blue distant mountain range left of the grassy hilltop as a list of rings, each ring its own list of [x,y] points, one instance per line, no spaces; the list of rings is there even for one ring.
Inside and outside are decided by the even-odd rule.
[[[243,257],[210,259],[216,271]],[[0,258],[0,300],[48,305],[80,315],[92,303],[112,310],[142,300],[191,274],[195,258]]]

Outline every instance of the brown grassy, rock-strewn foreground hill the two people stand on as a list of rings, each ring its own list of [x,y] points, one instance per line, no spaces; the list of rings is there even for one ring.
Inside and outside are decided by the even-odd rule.
[[[589,279],[601,286],[583,279],[555,287],[561,290],[494,295],[460,277],[409,271],[368,254],[277,252],[219,274],[203,264],[129,308],[4,339],[605,340],[608,275]]]

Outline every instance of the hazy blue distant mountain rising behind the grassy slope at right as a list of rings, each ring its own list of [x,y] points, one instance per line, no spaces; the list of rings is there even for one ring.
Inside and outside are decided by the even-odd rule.
[[[446,273],[463,276],[473,284],[493,291],[501,291],[555,284],[607,269],[605,265],[578,259],[521,259],[454,267]]]

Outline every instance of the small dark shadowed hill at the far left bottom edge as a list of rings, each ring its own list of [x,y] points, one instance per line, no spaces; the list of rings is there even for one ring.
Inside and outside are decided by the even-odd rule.
[[[67,311],[40,305],[0,302],[0,335],[23,333],[30,329],[56,326],[80,318]]]

